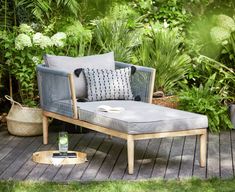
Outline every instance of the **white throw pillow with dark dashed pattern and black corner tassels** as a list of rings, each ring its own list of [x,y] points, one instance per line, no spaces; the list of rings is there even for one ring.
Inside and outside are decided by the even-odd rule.
[[[133,100],[131,68],[118,70],[84,69],[89,101]]]

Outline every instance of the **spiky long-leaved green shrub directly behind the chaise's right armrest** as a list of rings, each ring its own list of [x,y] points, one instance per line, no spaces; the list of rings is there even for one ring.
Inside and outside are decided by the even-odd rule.
[[[172,93],[188,72],[190,57],[180,48],[182,41],[175,31],[162,29],[143,37],[136,54],[139,65],[156,69],[155,90]]]

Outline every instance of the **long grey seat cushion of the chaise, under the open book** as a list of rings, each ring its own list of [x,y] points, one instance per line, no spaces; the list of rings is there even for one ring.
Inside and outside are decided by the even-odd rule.
[[[120,113],[100,112],[97,107],[124,107]],[[137,101],[78,102],[79,119],[128,134],[207,128],[205,115]]]

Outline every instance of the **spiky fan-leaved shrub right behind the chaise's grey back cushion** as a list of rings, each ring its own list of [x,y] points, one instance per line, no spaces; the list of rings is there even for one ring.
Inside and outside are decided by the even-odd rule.
[[[127,16],[113,12],[111,16],[92,23],[94,41],[100,51],[114,51],[115,59],[123,62],[131,62],[134,49],[141,43],[142,34],[142,30],[133,27],[136,23],[130,25]]]

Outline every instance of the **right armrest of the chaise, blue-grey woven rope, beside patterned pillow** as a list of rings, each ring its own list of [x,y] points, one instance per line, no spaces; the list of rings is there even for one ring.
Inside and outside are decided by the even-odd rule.
[[[146,103],[152,102],[155,69],[150,67],[143,67],[132,65],[123,62],[115,62],[117,69],[135,66],[136,72],[131,76],[131,89],[134,96],[140,96],[141,101]]]

